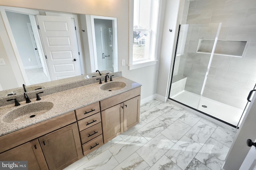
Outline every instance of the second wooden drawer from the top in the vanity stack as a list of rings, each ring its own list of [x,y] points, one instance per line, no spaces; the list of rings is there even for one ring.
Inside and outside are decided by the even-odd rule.
[[[101,122],[100,113],[96,113],[95,115],[91,115],[90,117],[86,117],[80,121],[78,121],[79,131],[87,129],[97,123]]]

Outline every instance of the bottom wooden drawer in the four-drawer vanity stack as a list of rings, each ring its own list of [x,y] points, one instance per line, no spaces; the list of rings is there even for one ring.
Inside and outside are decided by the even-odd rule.
[[[102,135],[82,145],[84,156],[103,145]]]

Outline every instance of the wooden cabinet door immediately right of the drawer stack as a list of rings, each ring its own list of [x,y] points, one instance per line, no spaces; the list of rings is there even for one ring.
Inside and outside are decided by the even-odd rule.
[[[110,107],[101,112],[103,141],[107,143],[124,132],[123,104]]]

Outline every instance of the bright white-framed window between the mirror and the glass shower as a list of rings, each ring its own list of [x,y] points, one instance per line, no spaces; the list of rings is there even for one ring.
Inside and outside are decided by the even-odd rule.
[[[130,70],[134,69],[135,64],[156,61],[159,1],[134,0],[131,4],[130,13],[133,16],[130,14],[130,19],[133,19],[133,23],[130,25]]]

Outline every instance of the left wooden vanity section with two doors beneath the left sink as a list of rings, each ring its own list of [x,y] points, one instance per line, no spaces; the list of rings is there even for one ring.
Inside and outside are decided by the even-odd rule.
[[[1,136],[0,142],[0,160],[28,160],[29,170],[61,170],[83,157],[74,111]]]

